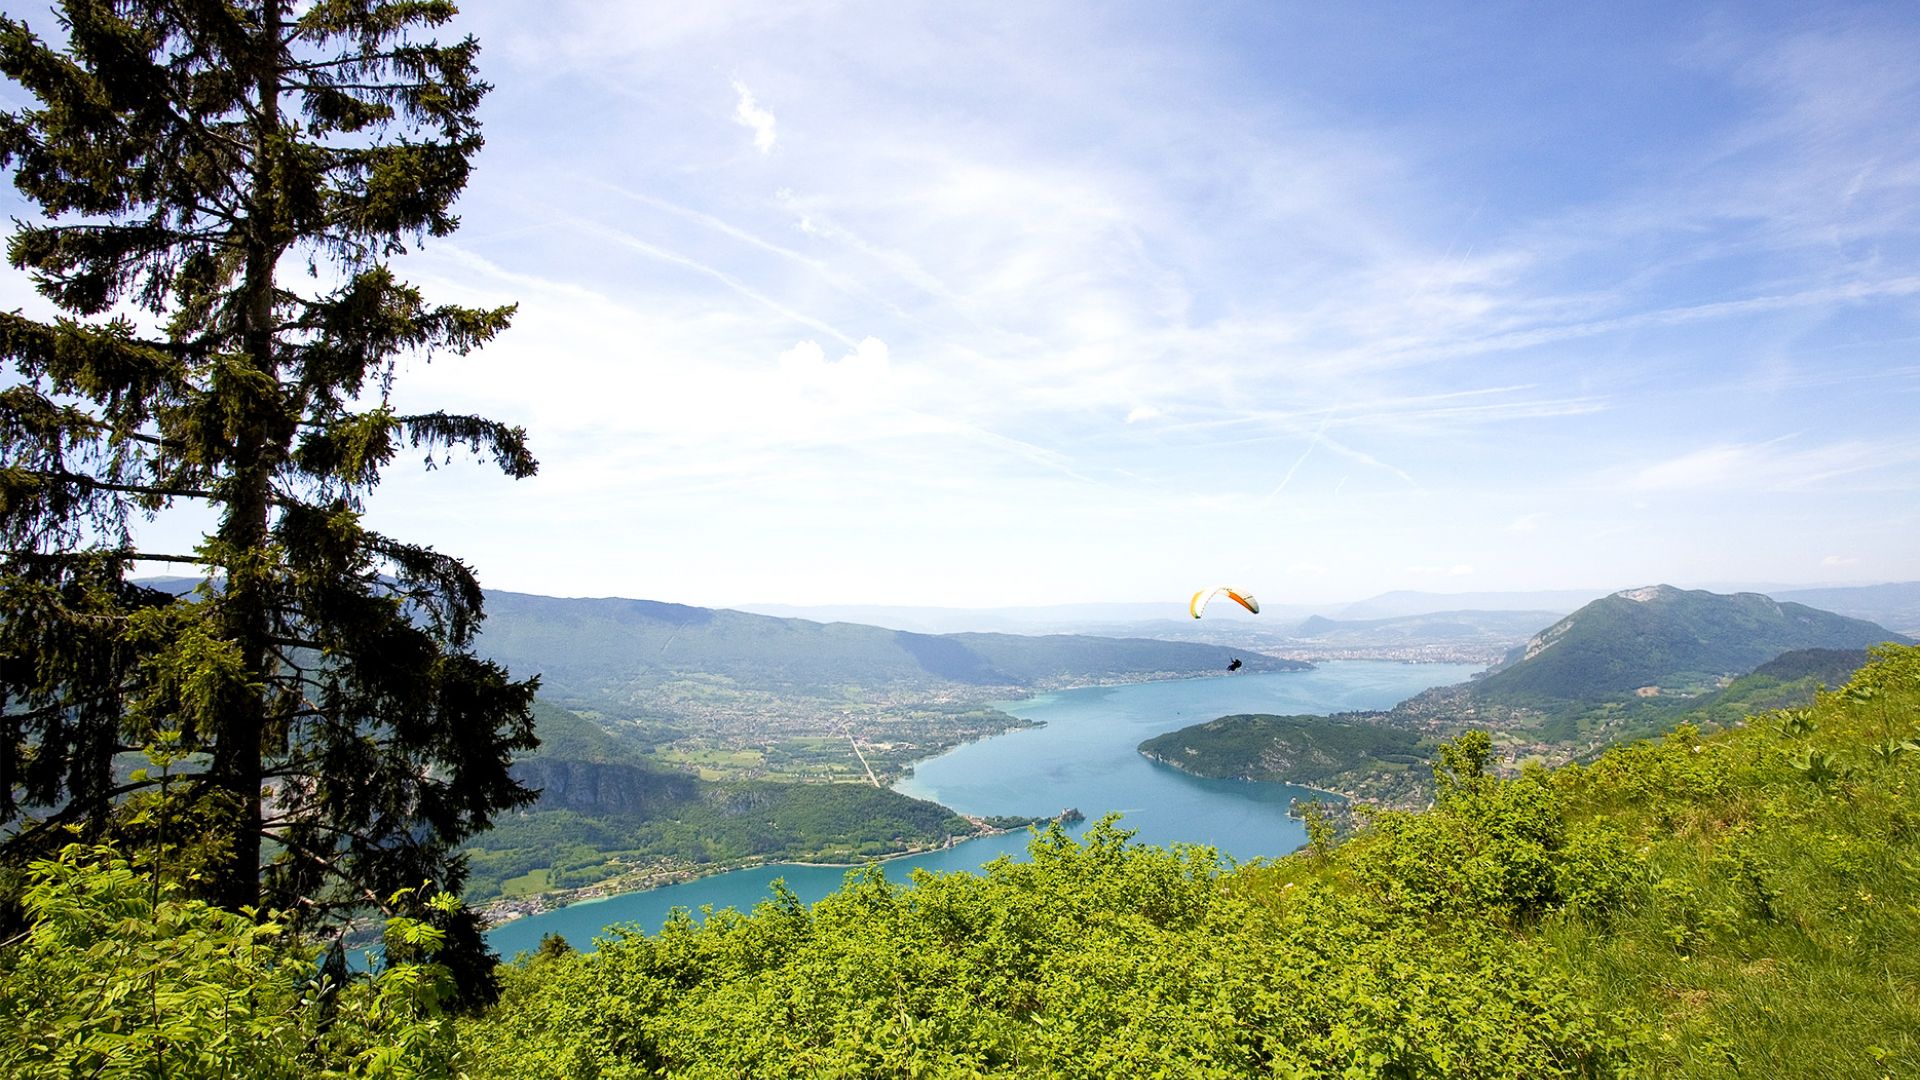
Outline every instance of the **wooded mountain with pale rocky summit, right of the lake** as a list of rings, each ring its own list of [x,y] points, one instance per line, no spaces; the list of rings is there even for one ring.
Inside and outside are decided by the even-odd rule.
[[[1534,705],[1713,688],[1791,650],[1860,650],[1905,640],[1862,619],[1757,592],[1667,584],[1605,596],[1534,634],[1480,678],[1480,701]]]

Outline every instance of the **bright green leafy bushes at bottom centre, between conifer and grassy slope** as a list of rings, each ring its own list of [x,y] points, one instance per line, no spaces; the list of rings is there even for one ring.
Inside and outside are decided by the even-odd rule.
[[[1267,903],[1112,821],[983,874],[616,932],[467,1026],[480,1076],[1578,1076],[1617,1057],[1540,957],[1361,896]],[[1258,884],[1258,882],[1250,882]]]

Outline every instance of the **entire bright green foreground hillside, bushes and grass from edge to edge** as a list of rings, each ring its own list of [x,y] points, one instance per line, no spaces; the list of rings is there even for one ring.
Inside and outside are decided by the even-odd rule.
[[[399,963],[326,992],[284,932],[106,863],[38,867],[0,1063],[250,1076],[1907,1076],[1920,1070],[1920,650],[1795,724],[1498,778],[1223,867],[1116,821],[981,874],[854,871],[810,909],[678,913],[505,970],[484,1015]],[[1818,757],[1816,757],[1818,755]],[[1830,761],[1809,782],[1799,761]],[[157,899],[156,899],[157,897]],[[451,907],[451,901],[440,901]],[[399,920],[394,961],[440,932]],[[280,949],[280,951],[276,951]],[[156,1007],[161,1001],[161,1007]],[[324,1019],[330,1017],[330,1019]],[[46,1055],[56,1055],[48,1059]],[[92,1055],[92,1057],[86,1057]],[[115,1057],[117,1055],[117,1057]],[[196,1057],[198,1055],[198,1057]],[[44,1065],[54,1061],[54,1065]],[[17,1065],[15,1065],[17,1063]],[[33,1072],[40,1068],[40,1072]]]

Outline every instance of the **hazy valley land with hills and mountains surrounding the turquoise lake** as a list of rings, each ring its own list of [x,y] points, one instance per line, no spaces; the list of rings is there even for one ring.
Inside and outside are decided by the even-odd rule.
[[[1210,630],[1260,638],[1235,648],[920,634],[501,594],[482,650],[541,675],[541,748],[516,774],[543,794],[468,846],[468,896],[505,920],[755,865],[856,865],[1025,828],[1075,799],[1020,805],[1008,792],[954,813],[916,763],[1033,728],[1008,701],[1073,686],[1238,678],[1225,671],[1229,657],[1242,657],[1248,675],[1315,663],[1486,667],[1367,709],[1202,715],[1139,744],[1144,759],[1194,776],[1419,807],[1432,798],[1434,748],[1461,732],[1486,730],[1509,773],[1586,759],[1680,723],[1711,728],[1805,703],[1864,663],[1864,644],[1899,640],[1791,601],[1665,586],[1565,617],[1526,607],[1396,613],[1407,603],[1415,600],[1382,601],[1373,619],[1309,615],[1283,630],[1235,619]],[[586,644],[561,648],[580,640],[572,634]],[[1755,657],[1764,663],[1740,667]],[[1181,709],[1213,698],[1188,684],[1165,701]]]

